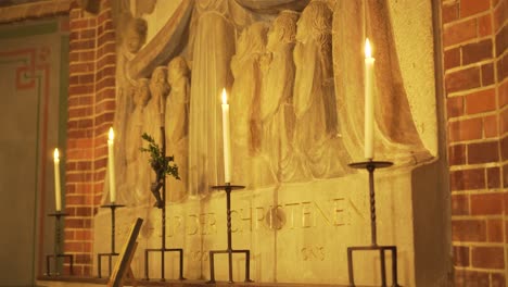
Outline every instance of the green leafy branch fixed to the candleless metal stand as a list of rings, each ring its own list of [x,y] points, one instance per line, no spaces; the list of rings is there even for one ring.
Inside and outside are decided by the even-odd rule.
[[[163,154],[161,148],[157,144],[155,144],[155,139],[151,137],[149,134],[143,133],[141,138],[149,142],[148,148],[141,147],[139,148],[142,152],[150,153],[150,164],[152,169],[157,173],[157,175],[172,175],[176,179],[180,179],[178,175],[178,166],[175,163],[175,158],[165,157]]]

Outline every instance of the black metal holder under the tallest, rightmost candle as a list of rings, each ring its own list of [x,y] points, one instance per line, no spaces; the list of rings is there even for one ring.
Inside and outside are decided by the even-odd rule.
[[[392,286],[399,286],[397,283],[397,247],[396,246],[379,246],[377,240],[377,227],[376,227],[376,191],[373,172],[376,169],[384,169],[393,165],[393,162],[386,161],[372,161],[367,162],[355,162],[351,163],[350,166],[358,170],[367,170],[369,173],[369,192],[370,192],[370,246],[355,246],[347,248],[347,271],[350,276],[350,286],[355,286],[355,277],[353,272],[353,251],[379,251],[381,258],[381,286],[386,287],[386,262],[385,251],[392,252]]]

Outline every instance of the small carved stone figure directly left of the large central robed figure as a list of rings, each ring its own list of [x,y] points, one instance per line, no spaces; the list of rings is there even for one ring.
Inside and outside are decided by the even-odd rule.
[[[175,157],[180,180],[166,178],[166,190],[170,201],[180,200],[187,194],[189,149],[189,67],[182,57],[173,59],[167,65],[167,82],[172,92],[166,99],[165,127],[166,152]]]

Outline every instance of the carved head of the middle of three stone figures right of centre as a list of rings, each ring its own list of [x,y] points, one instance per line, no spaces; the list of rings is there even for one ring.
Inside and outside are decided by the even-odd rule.
[[[284,10],[280,12],[268,30],[266,49],[274,51],[281,43],[294,42],[297,18],[299,15],[294,11]]]

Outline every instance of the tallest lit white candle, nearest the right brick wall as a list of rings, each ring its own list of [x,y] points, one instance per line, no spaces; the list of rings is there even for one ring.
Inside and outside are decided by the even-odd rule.
[[[365,40],[365,158],[373,159],[373,62],[369,39]]]

